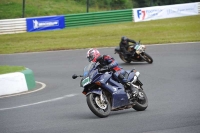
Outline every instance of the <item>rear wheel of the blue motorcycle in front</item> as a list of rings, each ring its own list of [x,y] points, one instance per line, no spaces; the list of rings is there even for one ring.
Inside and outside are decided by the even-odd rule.
[[[148,98],[142,89],[139,89],[138,91],[139,97],[141,97],[141,99],[135,101],[133,108],[137,111],[144,111],[148,107]]]

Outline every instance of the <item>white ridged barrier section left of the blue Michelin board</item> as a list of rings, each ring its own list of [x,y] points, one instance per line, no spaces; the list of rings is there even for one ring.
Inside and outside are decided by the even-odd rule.
[[[0,20],[0,34],[13,34],[26,32],[26,19]]]

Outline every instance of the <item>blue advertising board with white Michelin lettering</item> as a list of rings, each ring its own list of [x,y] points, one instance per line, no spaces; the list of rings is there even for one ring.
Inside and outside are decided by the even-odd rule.
[[[27,32],[65,28],[64,16],[47,16],[26,19]]]

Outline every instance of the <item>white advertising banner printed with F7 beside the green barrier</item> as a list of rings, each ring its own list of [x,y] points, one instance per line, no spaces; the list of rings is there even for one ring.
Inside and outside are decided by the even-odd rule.
[[[133,13],[135,22],[198,15],[198,3],[136,8]]]

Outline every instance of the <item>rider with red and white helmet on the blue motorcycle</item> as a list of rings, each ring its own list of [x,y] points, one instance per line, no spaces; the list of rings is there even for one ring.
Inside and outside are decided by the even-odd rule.
[[[128,82],[128,79],[124,77],[125,70],[118,65],[114,58],[109,55],[101,55],[97,49],[91,48],[87,52],[87,59],[89,62],[99,62],[103,69],[113,71],[113,77],[119,80],[126,89],[132,91],[132,89],[129,87],[130,82]],[[133,95],[136,96],[136,92],[134,92]]]

